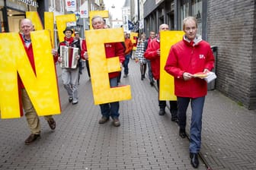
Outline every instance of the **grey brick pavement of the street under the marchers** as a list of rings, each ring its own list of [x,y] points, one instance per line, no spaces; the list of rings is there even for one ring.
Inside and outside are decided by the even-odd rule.
[[[120,102],[119,128],[111,121],[98,124],[100,109],[94,105],[85,70],[78,105],[68,102],[59,79],[62,114],[54,116],[55,131],[40,118],[40,140],[24,145],[30,134],[25,118],[1,119],[0,169],[193,169],[189,141],[178,136],[178,125],[169,112],[158,115],[157,91],[148,79],[140,80],[139,65],[134,61],[130,61],[129,77],[121,83],[131,85],[133,99]],[[204,162],[214,170],[256,169],[255,121],[255,111],[210,91],[203,113],[203,159],[198,169],[206,169]]]

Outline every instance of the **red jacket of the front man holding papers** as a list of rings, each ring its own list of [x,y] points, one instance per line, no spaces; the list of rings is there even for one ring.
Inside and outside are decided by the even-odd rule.
[[[174,76],[174,94],[181,97],[197,98],[206,96],[207,83],[200,78],[184,80],[184,72],[196,74],[205,68],[211,71],[214,67],[214,56],[210,44],[202,39],[195,40],[195,44],[184,38],[171,46],[165,71]]]

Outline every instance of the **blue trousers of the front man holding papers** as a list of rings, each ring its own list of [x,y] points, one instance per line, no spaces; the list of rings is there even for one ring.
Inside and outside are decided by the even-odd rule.
[[[178,124],[181,129],[186,128],[187,106],[191,101],[190,124],[190,153],[199,153],[201,147],[202,115],[205,96],[198,98],[177,97],[178,99]]]

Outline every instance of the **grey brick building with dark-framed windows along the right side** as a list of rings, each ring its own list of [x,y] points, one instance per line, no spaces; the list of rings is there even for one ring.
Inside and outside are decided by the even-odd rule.
[[[158,33],[164,23],[182,30],[184,17],[196,17],[198,33],[218,49],[216,89],[239,105],[256,109],[255,9],[254,0],[147,0],[144,32]]]

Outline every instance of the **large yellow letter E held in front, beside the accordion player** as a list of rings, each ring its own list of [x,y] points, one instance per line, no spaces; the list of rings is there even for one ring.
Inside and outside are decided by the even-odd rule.
[[[119,57],[106,58],[104,43],[123,42],[123,29],[86,30],[94,104],[131,99],[130,86],[110,88],[108,73],[120,71]]]

